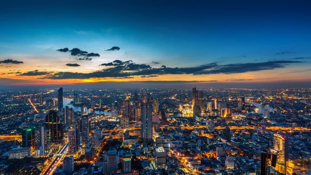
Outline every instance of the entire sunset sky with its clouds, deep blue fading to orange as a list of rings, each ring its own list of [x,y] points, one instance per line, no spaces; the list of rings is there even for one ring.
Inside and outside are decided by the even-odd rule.
[[[0,2],[0,88],[310,87],[307,0]]]

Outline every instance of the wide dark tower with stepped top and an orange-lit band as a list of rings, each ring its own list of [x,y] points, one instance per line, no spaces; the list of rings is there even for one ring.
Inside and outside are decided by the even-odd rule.
[[[59,116],[53,109],[45,116],[45,127],[48,129],[48,140],[59,141],[63,138],[63,124],[59,122]]]

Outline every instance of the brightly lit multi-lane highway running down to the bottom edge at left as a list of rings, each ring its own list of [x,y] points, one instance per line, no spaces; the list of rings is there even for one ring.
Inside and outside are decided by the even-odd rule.
[[[53,155],[53,161],[48,165],[46,169],[43,169],[43,175],[53,174],[53,172],[57,169],[58,165],[61,163],[62,159],[65,157],[65,153],[68,150],[68,144],[64,144],[58,150],[56,154]]]

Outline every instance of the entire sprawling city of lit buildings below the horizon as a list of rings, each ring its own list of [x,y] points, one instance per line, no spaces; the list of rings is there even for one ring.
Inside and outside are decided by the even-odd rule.
[[[1,174],[311,173],[309,88],[60,87],[0,104]]]

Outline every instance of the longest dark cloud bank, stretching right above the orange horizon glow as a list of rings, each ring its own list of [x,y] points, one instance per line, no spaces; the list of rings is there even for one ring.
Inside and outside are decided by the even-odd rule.
[[[112,62],[100,65],[111,66],[102,70],[91,73],[78,72],[57,72],[46,78],[66,79],[66,78],[102,78],[102,77],[152,77],[162,74],[217,74],[217,73],[241,73],[248,71],[269,70],[275,68],[283,68],[291,63],[299,63],[301,61],[293,60],[274,60],[266,62],[249,62],[218,65],[216,62],[202,64],[193,67],[167,67],[162,65],[159,68],[153,68],[147,64],[136,64],[131,60],[121,61],[114,60]]]

